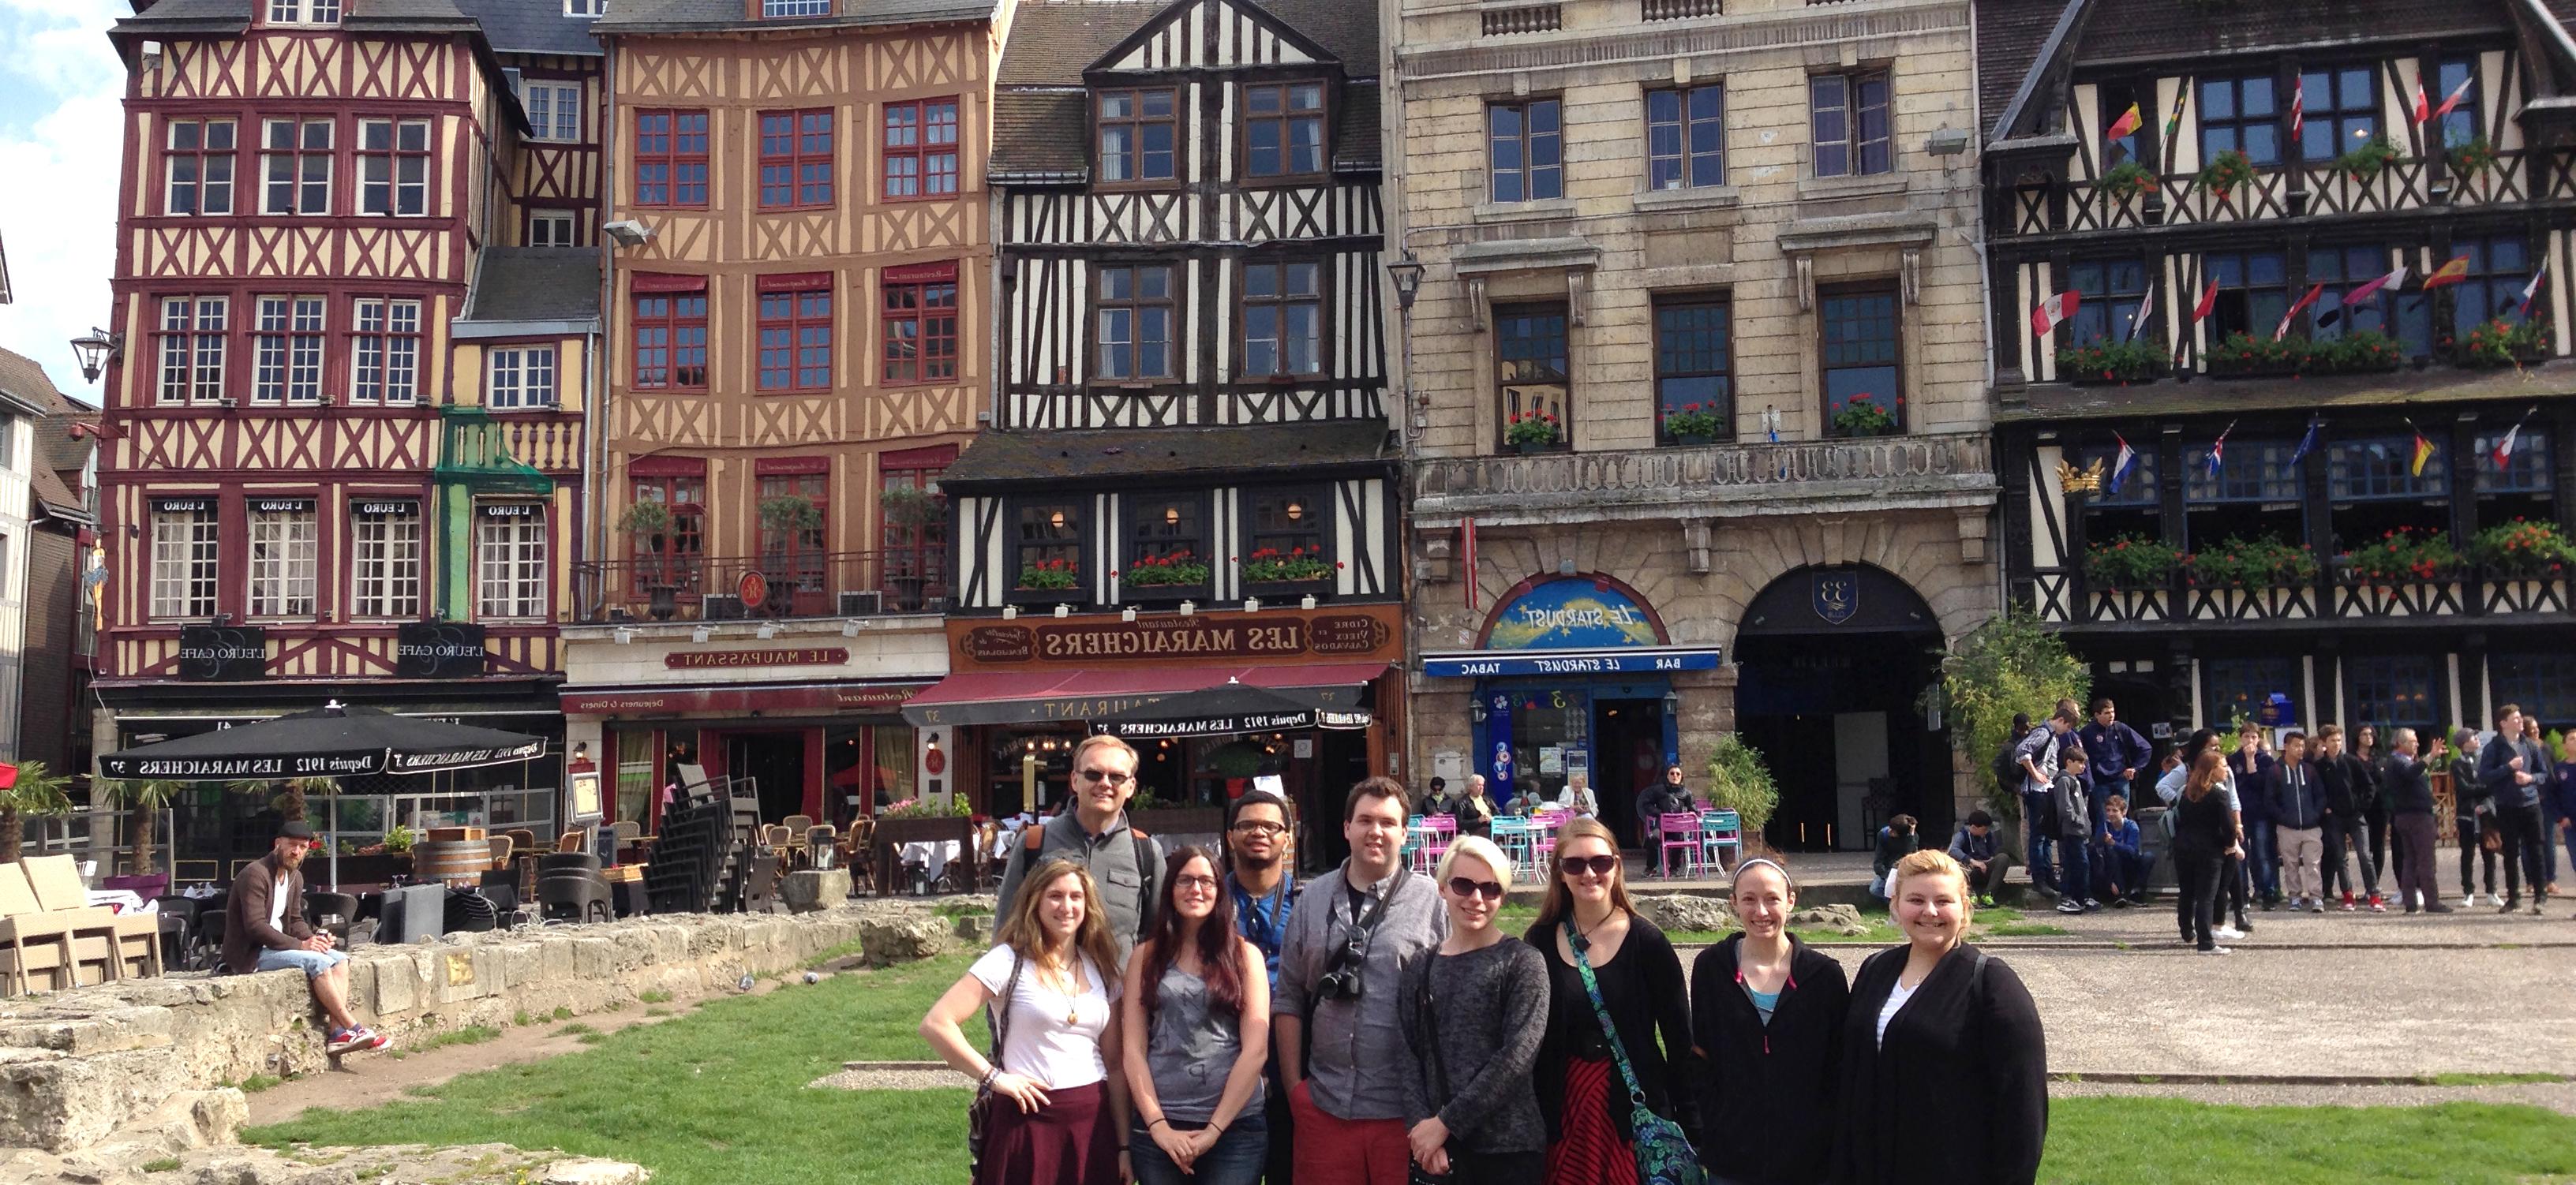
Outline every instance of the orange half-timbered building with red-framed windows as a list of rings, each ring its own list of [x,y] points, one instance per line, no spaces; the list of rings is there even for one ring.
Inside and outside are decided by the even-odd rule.
[[[649,819],[672,765],[850,822],[938,765],[940,471],[987,404],[994,0],[616,0],[605,544],[564,708]]]

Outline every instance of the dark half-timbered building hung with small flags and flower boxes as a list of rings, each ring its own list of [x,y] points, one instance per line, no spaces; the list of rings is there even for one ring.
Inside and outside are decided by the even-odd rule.
[[[1978,3],[2009,590],[2141,729],[2576,721],[2566,18]]]

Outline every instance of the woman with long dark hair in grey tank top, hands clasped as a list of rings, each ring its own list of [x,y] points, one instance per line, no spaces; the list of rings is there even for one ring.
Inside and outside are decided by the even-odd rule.
[[[1164,863],[1154,938],[1128,958],[1123,1020],[1136,1180],[1257,1182],[1270,1146],[1270,976],[1234,933],[1234,902],[1203,848]]]

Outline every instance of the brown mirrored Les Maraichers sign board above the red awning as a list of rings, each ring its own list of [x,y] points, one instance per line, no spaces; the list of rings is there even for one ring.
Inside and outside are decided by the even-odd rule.
[[[1244,662],[1244,659],[1376,659],[1394,662],[1394,608],[1193,613],[1121,621],[1113,616],[1046,621],[951,621],[961,667],[1103,662]]]

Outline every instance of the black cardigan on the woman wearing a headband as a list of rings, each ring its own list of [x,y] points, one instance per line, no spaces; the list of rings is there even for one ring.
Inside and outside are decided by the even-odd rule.
[[[1772,1023],[1736,984],[1744,935],[1700,951],[1690,966],[1690,1095],[1700,1146],[1716,1180],[1816,1185],[1834,1139],[1834,1074],[1842,1012],[1852,989],[1837,963],[1790,935],[1788,979]]]

